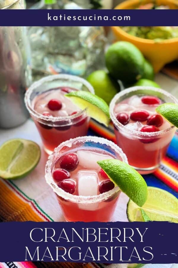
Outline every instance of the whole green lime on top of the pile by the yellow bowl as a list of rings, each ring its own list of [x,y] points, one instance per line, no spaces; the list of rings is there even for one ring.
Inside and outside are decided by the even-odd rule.
[[[126,84],[133,84],[144,74],[144,57],[132,43],[119,41],[112,44],[105,61],[109,73]]]

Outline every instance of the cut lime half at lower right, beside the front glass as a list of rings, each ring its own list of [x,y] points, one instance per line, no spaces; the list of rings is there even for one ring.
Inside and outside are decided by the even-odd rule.
[[[140,208],[129,200],[127,217],[130,222],[140,221]],[[142,209],[151,221],[170,221],[178,223],[178,199],[167,191],[155,187],[148,187],[147,201]]]

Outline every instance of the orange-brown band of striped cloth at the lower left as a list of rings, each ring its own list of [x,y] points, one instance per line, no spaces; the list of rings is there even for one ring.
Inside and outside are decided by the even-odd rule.
[[[2,221],[44,221],[34,212],[30,202],[24,202],[2,180],[0,180],[0,192],[0,218]]]

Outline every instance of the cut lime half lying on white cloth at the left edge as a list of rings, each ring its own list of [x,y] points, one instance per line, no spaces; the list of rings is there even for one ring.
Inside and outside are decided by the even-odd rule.
[[[25,177],[38,164],[40,148],[33,141],[13,139],[0,147],[0,177],[18,179]]]

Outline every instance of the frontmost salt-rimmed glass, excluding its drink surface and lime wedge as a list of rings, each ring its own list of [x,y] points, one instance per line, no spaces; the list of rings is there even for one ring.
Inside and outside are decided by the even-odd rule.
[[[52,177],[53,167],[62,155],[75,149],[85,150],[86,147],[90,147],[91,151],[101,149],[113,158],[117,158],[128,163],[126,155],[112,141],[93,136],[78,137],[63,142],[55,148],[53,154],[49,156],[46,164],[46,182],[55,192],[66,221],[108,222],[112,219],[112,215],[117,204],[120,194],[119,187],[115,187],[108,192],[95,196],[73,195],[59,188]],[[96,203],[98,203],[97,209],[87,210],[87,205]]]

